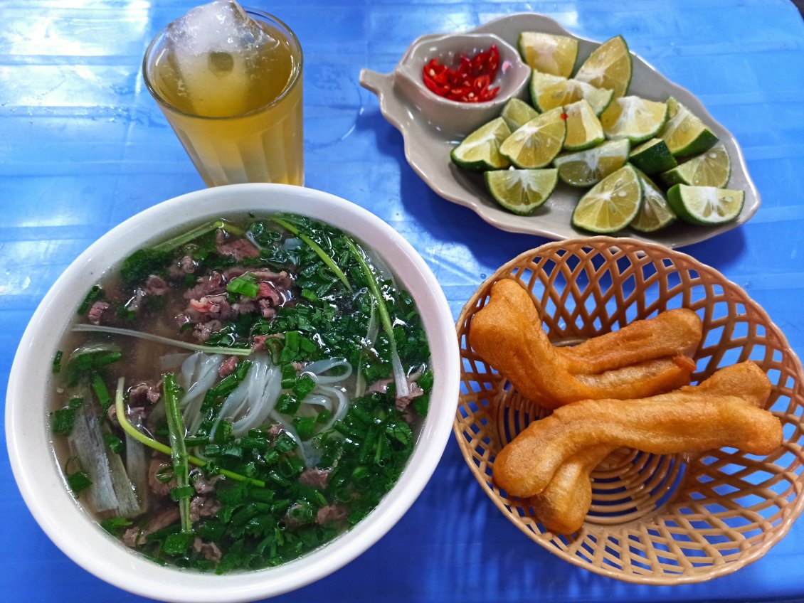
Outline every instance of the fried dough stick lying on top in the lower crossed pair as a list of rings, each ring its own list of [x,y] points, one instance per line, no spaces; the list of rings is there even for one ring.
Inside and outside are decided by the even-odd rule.
[[[769,454],[781,441],[777,417],[739,396],[670,392],[642,400],[582,400],[519,433],[494,461],[494,481],[508,494],[535,496],[587,446],[628,446],[655,454],[734,446]]]

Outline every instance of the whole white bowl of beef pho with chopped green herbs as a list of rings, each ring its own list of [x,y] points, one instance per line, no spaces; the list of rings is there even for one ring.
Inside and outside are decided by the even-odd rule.
[[[6,440],[32,515],[84,569],[162,601],[253,601],[404,515],[458,374],[444,294],[388,224],[303,187],[216,187],[59,277],[14,358]]]

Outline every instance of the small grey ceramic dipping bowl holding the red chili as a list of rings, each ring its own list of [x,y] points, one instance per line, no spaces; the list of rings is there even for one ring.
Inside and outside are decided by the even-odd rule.
[[[427,88],[422,70],[431,59],[455,68],[461,55],[474,57],[478,52],[496,46],[500,53],[500,68],[492,82],[499,87],[492,100],[479,103],[449,100]],[[470,133],[487,121],[499,117],[506,102],[522,98],[527,92],[531,69],[519,58],[519,51],[494,34],[424,35],[414,41],[396,66],[395,82],[412,104],[439,129],[455,133]]]

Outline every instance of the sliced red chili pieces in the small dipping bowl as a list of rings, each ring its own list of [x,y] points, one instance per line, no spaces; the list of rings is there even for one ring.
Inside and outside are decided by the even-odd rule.
[[[478,52],[474,57],[461,55],[457,68],[448,68],[430,59],[422,69],[425,86],[449,100],[484,102],[497,96],[498,88],[490,88],[497,77],[500,54],[496,46]]]

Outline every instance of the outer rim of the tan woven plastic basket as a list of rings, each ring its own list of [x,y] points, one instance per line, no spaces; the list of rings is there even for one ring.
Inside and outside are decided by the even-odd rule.
[[[750,297],[745,291],[745,289],[740,287],[740,285],[737,285],[734,281],[728,279],[728,277],[721,273],[720,270],[704,264],[704,262],[698,260],[694,256],[689,255],[688,253],[681,252],[678,249],[668,248],[666,245],[650,243],[633,237],[579,236],[570,239],[549,241],[548,243],[541,244],[535,248],[525,250],[511,258],[511,260],[507,260],[500,265],[498,269],[495,269],[493,273],[490,273],[490,275],[486,277],[486,279],[484,279],[480,285],[478,285],[477,289],[475,289],[474,293],[472,293],[470,298],[466,301],[466,304],[461,308],[456,322],[456,333],[459,340],[466,338],[466,329],[470,324],[470,319],[479,310],[478,302],[488,296],[488,291],[494,282],[500,280],[500,278],[504,277],[504,275],[511,277],[512,271],[523,267],[523,265],[526,265],[527,262],[532,261],[533,258],[549,257],[558,252],[570,253],[568,250],[571,248],[585,248],[594,250],[608,248],[614,251],[621,251],[623,248],[629,248],[632,252],[641,251],[642,253],[646,254],[656,254],[653,257],[654,261],[671,259],[675,264],[675,260],[683,260],[687,262],[688,265],[694,266],[695,269],[704,269],[705,272],[710,273],[713,277],[719,279],[724,290],[741,294],[741,303],[746,307],[746,309],[750,306],[750,309],[753,311],[753,313],[762,319],[767,332],[773,332],[773,335],[778,339],[780,347],[784,347],[786,349],[787,354],[789,355],[790,363],[794,367],[795,374],[802,378],[802,382],[804,382],[804,368],[802,368],[802,361],[794,349],[790,347],[790,343],[788,342],[786,335],[777,326],[777,324],[773,322],[773,319],[770,318],[767,311],[759,303],[757,303],[757,301],[754,301],[753,298]],[[465,362],[466,355],[469,350],[468,344],[466,345],[467,347],[465,347],[461,342],[461,383],[463,383],[466,375],[466,372],[463,369],[463,363]],[[500,511],[506,517],[506,519],[511,521],[511,523],[513,523],[515,527],[519,529],[519,531],[522,531],[524,535],[535,541],[536,544],[539,544],[539,546],[546,549],[548,552],[551,552],[553,555],[559,556],[561,559],[568,561],[568,563],[575,565],[578,568],[585,569],[586,571],[593,572],[601,576],[607,576],[615,580],[642,585],[688,585],[699,583],[704,580],[711,580],[720,576],[726,576],[731,572],[735,572],[736,570],[745,567],[746,565],[752,564],[753,562],[761,559],[762,556],[765,556],[765,553],[769,552],[773,546],[778,544],[778,542],[788,534],[790,528],[793,526],[793,523],[800,515],[802,515],[802,512],[804,512],[804,496],[798,495],[795,501],[790,503],[790,507],[788,507],[783,519],[781,519],[781,521],[773,527],[773,537],[762,539],[760,544],[752,546],[750,551],[744,556],[741,556],[740,559],[733,560],[725,564],[710,565],[706,571],[691,574],[679,573],[675,575],[624,574],[623,572],[617,571],[613,565],[608,566],[603,564],[598,567],[597,565],[590,563],[588,558],[578,556],[576,552],[571,550],[571,547],[562,547],[557,544],[557,542],[560,540],[560,536],[553,535],[552,532],[544,530],[544,527],[540,523],[537,522],[543,531],[540,531],[538,534],[531,531],[527,525],[523,523],[519,516],[516,516],[511,512],[510,509],[507,508],[505,499],[495,492],[494,489],[490,487],[490,484],[486,482],[485,476],[482,474],[482,470],[480,470],[478,466],[472,462],[472,457],[473,455],[476,455],[476,453],[474,450],[470,449],[470,444],[466,441],[466,429],[464,429],[466,426],[466,417],[461,417],[461,408],[465,408],[464,398],[466,396],[472,396],[473,393],[470,392],[469,394],[465,395],[462,393],[462,391],[463,386],[461,386],[461,398],[458,401],[458,408],[456,408],[453,420],[453,436],[457,441],[458,448],[461,450],[461,456],[464,458],[464,461],[466,461],[467,466],[469,466],[471,473],[478,482],[478,485],[490,498],[491,502],[494,503],[494,507],[497,507],[498,511]],[[474,422],[475,417],[476,415],[473,413],[472,422]],[[641,520],[637,520],[637,522],[639,521]],[[614,528],[621,527],[622,525],[624,524],[614,525],[612,527],[612,531]],[[597,537],[600,531],[605,531],[607,529],[609,528],[604,524],[597,524],[592,530],[590,530],[590,533]]]

